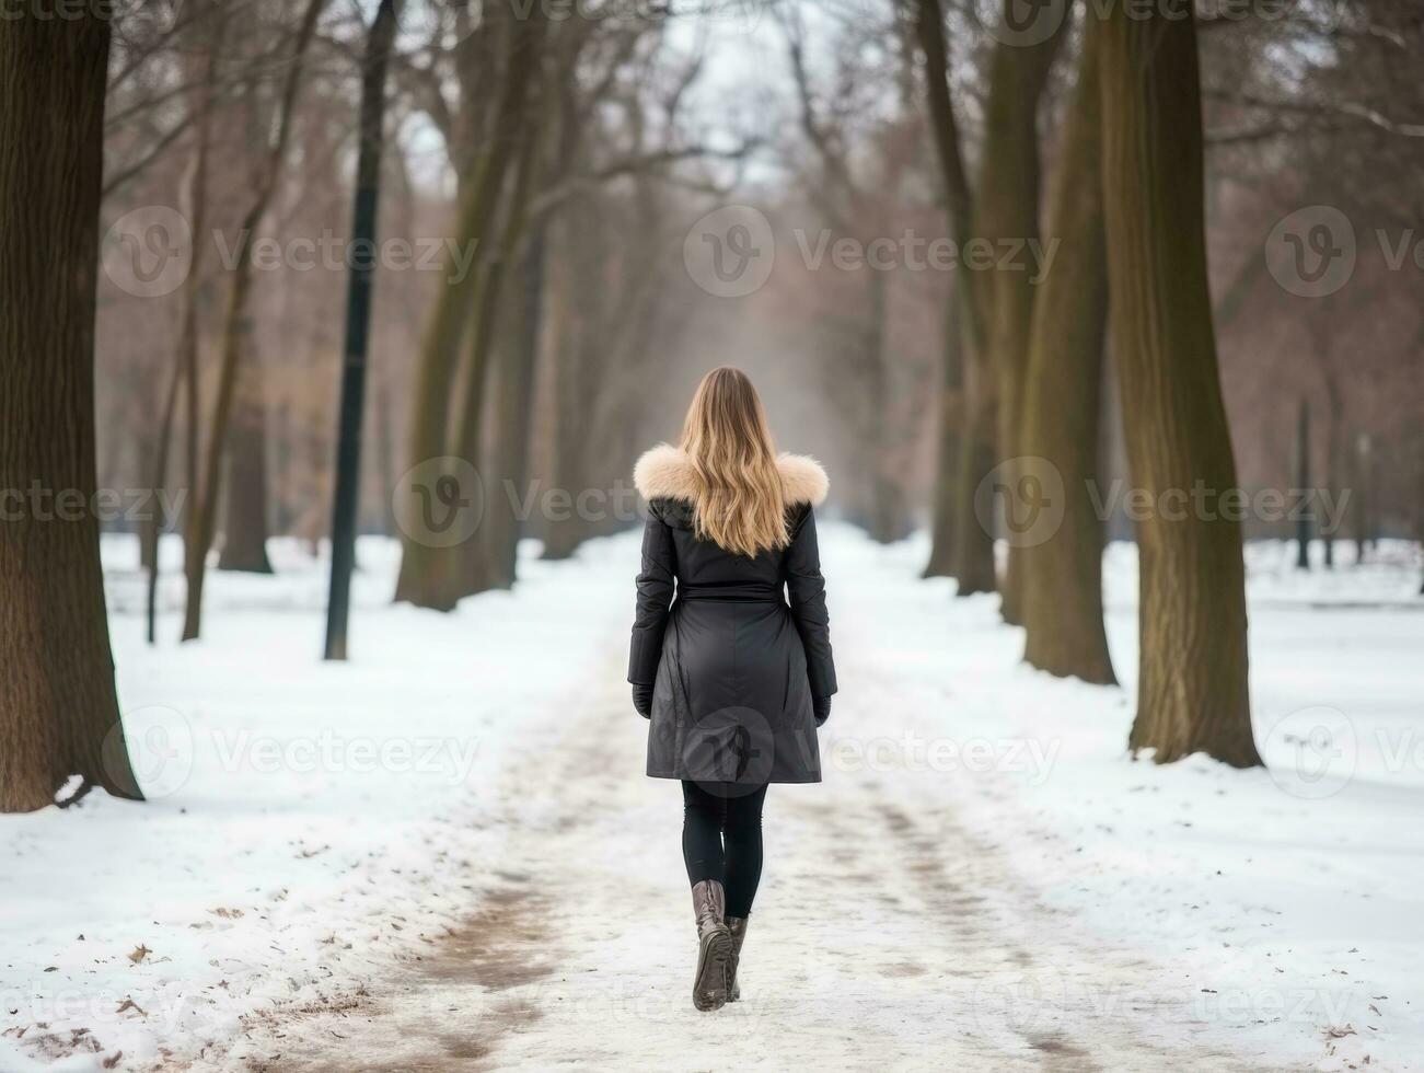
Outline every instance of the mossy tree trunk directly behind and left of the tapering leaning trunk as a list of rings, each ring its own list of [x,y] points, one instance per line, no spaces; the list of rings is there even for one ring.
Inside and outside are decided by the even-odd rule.
[[[1004,20],[1018,0],[1004,0]],[[1069,20],[1062,20],[1067,24]],[[977,205],[977,237],[993,242],[1038,239],[1038,101],[1062,40],[1057,30],[1038,44],[1000,43],[990,61],[988,101],[984,110],[984,162]],[[998,430],[995,463],[1022,455],[1018,443],[1024,406],[1024,370],[1028,365],[1028,332],[1034,312],[1034,272],[1025,252],[1018,266],[997,268],[988,275],[988,362],[998,378]],[[1011,486],[1012,472],[1001,470]],[[1000,580],[1004,621],[1022,621],[1020,556],[1008,541],[1008,561]]]

